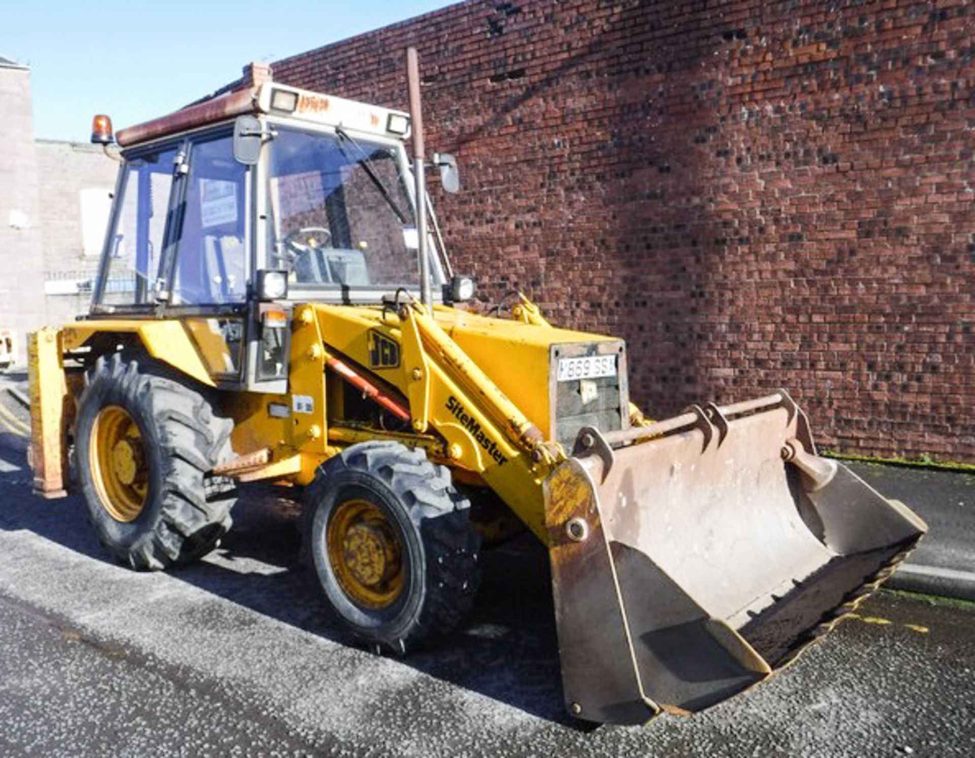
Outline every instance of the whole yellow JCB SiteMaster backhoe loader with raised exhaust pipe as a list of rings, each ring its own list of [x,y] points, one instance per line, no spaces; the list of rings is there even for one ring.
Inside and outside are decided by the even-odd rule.
[[[463,623],[470,502],[500,500],[548,547],[572,714],[747,689],[924,524],[818,457],[785,392],[648,423],[621,340],[524,297],[456,307],[408,59],[409,113],[269,81],[118,133],[91,312],[30,339],[35,491],[72,460],[107,550],[164,569],[215,547],[237,482],[302,486],[327,603],[396,653]],[[455,191],[452,157],[431,166]]]

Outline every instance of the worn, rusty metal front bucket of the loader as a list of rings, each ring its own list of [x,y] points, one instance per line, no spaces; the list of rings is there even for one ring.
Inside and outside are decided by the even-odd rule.
[[[815,455],[784,392],[580,432],[545,483],[565,702],[640,724],[793,661],[926,531]]]

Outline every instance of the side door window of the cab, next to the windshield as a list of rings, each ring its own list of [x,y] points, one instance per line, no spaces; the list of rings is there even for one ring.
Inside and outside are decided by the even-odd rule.
[[[176,241],[174,305],[241,303],[247,299],[246,175],[247,167],[234,160],[229,134],[192,146]]]

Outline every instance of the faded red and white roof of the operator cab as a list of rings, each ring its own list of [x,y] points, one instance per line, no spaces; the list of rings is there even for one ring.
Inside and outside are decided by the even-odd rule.
[[[212,97],[181,108],[168,116],[119,130],[116,139],[121,147],[131,147],[243,114],[271,114],[399,139],[409,136],[409,115],[404,111],[313,93],[277,82],[264,82],[256,87]]]

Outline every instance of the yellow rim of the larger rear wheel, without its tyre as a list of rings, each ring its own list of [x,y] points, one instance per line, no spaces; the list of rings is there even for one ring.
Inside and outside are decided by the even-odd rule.
[[[101,505],[116,521],[133,521],[149,489],[142,435],[118,405],[98,411],[91,439],[91,471]]]

